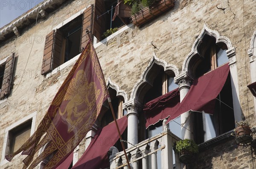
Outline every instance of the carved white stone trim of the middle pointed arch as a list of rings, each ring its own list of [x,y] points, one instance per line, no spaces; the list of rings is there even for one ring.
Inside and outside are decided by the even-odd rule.
[[[155,67],[161,66],[169,75],[173,77],[180,74],[177,66],[173,64],[168,64],[165,60],[161,60],[157,57],[156,53],[154,52],[153,57],[151,58],[148,66],[142,73],[140,80],[135,84],[134,88],[131,92],[130,100],[138,100],[139,102],[143,102],[143,97],[145,93],[153,86],[154,78],[157,75],[157,72],[154,71]]]

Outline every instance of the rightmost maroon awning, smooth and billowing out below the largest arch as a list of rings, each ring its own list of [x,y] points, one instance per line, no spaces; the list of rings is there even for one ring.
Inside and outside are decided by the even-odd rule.
[[[170,114],[166,123],[189,110],[195,112],[204,111],[213,115],[215,99],[221,92],[221,89],[227,80],[229,70],[230,67],[228,63],[226,63],[225,65],[204,74],[204,76],[195,79],[182,102],[175,107],[177,109],[175,111],[174,109],[170,110],[168,108],[164,110],[173,112]]]

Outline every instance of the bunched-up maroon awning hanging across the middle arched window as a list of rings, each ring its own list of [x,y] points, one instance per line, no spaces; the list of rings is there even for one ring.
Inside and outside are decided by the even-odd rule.
[[[178,103],[180,103],[180,92],[178,88],[146,103],[143,109],[146,117],[146,128],[157,123],[159,120],[169,117],[169,114],[162,112],[162,110],[166,107],[173,108]]]

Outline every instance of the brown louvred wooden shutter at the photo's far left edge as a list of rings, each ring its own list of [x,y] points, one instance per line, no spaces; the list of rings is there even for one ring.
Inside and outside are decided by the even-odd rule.
[[[3,83],[2,83],[1,93],[0,93],[0,100],[8,96],[10,93],[11,82],[12,82],[12,70],[14,65],[14,56],[15,56],[15,53],[9,56],[6,60],[6,65],[4,69],[4,75],[3,75]]]

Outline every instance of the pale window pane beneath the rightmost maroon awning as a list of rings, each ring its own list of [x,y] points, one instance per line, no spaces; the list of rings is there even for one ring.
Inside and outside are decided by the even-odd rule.
[[[206,124],[206,140],[210,140],[216,137],[215,124],[213,115],[205,113],[205,124]]]

